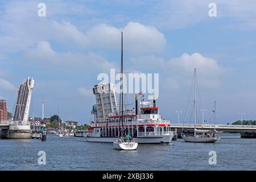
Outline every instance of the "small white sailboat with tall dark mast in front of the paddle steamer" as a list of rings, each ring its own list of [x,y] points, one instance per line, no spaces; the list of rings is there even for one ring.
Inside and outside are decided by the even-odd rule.
[[[121,93],[120,93],[120,100],[121,104],[119,106],[119,113],[121,114],[119,117],[119,130],[121,129],[121,136],[120,133],[118,133],[119,137],[117,138],[117,140],[115,140],[113,142],[113,146],[114,149],[116,150],[136,150],[136,148],[138,147],[138,143],[131,139],[129,134],[127,134],[126,136],[124,136],[124,129],[123,129],[123,32],[121,32],[122,35],[122,52],[121,52]],[[120,121],[122,121],[122,127],[120,128]]]

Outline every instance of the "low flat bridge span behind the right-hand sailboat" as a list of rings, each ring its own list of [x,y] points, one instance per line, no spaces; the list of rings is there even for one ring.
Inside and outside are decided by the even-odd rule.
[[[184,133],[193,133],[194,124],[185,123],[172,123],[171,129],[173,131],[177,130],[178,136],[180,137],[180,133],[182,131],[182,127],[184,126],[183,132]],[[198,130],[214,130],[222,131],[225,133],[241,133],[242,138],[256,138],[256,125],[209,125],[209,124],[197,124],[196,129]]]

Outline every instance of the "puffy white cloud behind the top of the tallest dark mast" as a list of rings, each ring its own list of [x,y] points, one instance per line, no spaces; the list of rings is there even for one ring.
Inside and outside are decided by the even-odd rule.
[[[121,30],[123,31],[123,47],[132,54],[162,52],[166,46],[164,35],[153,26],[138,22],[128,22],[123,28],[98,24],[85,32],[81,37],[86,47],[120,48]]]

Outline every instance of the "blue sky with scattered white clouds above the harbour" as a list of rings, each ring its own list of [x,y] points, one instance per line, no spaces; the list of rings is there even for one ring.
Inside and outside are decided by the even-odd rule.
[[[13,110],[16,86],[30,76],[30,115],[42,116],[44,97],[45,117],[59,107],[61,118],[89,123],[97,76],[118,71],[122,30],[125,70],[159,73],[164,118],[177,122],[180,110],[183,121],[196,68],[205,118],[216,101],[217,123],[256,119],[255,9],[253,0],[1,0],[0,98]]]

